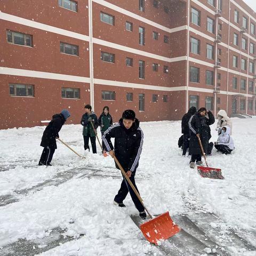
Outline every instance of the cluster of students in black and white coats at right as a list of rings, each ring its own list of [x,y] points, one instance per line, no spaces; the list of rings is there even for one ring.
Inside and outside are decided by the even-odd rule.
[[[210,110],[200,108],[196,110],[191,107],[182,117],[181,133],[182,137],[179,139],[179,147],[182,147],[182,155],[191,155],[190,167],[195,168],[197,165],[203,165],[202,154],[210,156],[213,147],[220,151],[222,154],[230,154],[234,150],[234,140],[231,138],[232,121],[228,117],[225,110],[220,110],[217,114],[218,123],[216,131],[218,132],[218,140],[210,142],[212,137],[210,125],[215,123],[215,118]],[[199,144],[199,139],[202,142],[203,150]],[[181,142],[182,141],[182,142]]]

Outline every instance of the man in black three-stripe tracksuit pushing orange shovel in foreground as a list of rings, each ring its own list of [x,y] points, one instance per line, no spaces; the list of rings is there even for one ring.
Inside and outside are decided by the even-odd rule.
[[[111,157],[116,156],[123,169],[126,171],[128,178],[137,189],[135,184],[135,173],[139,165],[140,154],[143,145],[143,132],[139,127],[140,121],[135,118],[133,110],[125,110],[119,123],[114,124],[108,128],[103,134],[103,142],[105,143],[107,151]],[[111,138],[115,138],[115,147],[111,143]],[[114,149],[115,148],[115,149]],[[119,169],[116,164],[116,168]],[[123,203],[128,192],[132,197],[132,201],[139,211],[142,219],[146,219],[147,214],[144,206],[135,195],[129,183],[123,177],[121,188],[114,198],[114,204],[119,207],[126,207]],[[138,191],[139,192],[139,191]]]

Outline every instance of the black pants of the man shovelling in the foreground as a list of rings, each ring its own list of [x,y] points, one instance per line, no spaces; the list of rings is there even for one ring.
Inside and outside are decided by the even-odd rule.
[[[132,172],[132,175],[131,175],[131,177],[130,177],[130,180],[131,180],[133,186],[137,189],[137,191],[138,191],[138,193],[139,193],[139,190],[138,190],[138,188],[137,188],[137,186],[136,186],[136,184],[135,184],[135,180],[134,180],[135,172],[136,172],[136,170],[134,170],[134,171]],[[115,200],[118,204],[123,203],[123,201],[124,201],[125,197],[127,196],[128,192],[130,193],[131,198],[132,198],[132,201],[133,201],[135,207],[137,208],[137,210],[138,210],[139,212],[145,211],[145,208],[143,207],[143,205],[142,205],[141,202],[139,201],[139,198],[138,198],[137,195],[133,192],[133,190],[132,190],[130,184],[127,182],[127,180],[126,180],[126,179],[124,178],[124,176],[123,176],[123,181],[122,181],[122,183],[121,183],[121,187],[120,187],[120,189],[119,189],[117,195],[115,196],[115,199],[114,199],[114,200]]]

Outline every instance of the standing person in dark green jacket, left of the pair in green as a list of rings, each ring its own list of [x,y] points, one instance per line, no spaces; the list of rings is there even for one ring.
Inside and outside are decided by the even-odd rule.
[[[83,125],[83,137],[84,137],[84,150],[89,149],[89,138],[91,140],[92,145],[92,153],[97,154],[96,149],[96,134],[93,130],[92,124],[94,129],[97,130],[99,126],[98,118],[96,114],[92,111],[91,105],[85,105],[85,114],[82,116],[81,124]],[[92,124],[91,124],[92,121]]]

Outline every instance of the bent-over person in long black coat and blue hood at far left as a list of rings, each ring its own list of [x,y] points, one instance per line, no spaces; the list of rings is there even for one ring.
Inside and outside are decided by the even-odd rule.
[[[57,149],[56,137],[59,138],[59,131],[62,125],[67,121],[70,113],[63,109],[60,114],[52,116],[52,121],[46,126],[40,146],[44,147],[38,165],[51,166],[52,157]]]

